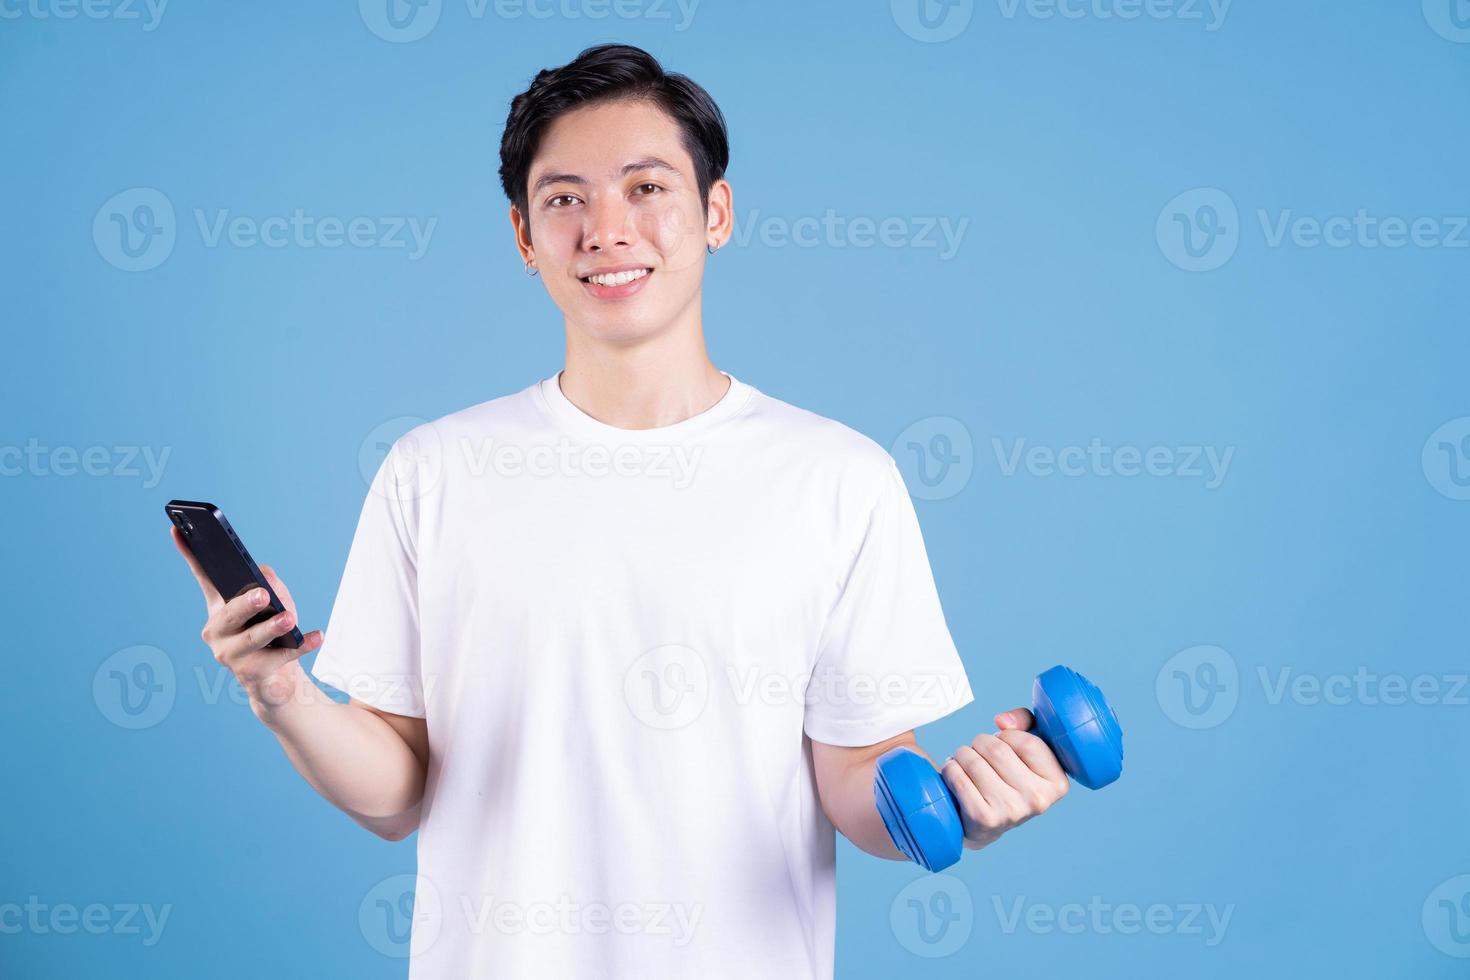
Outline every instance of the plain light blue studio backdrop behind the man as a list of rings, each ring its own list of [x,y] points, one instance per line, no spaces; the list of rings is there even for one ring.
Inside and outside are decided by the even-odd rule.
[[[978,704],[925,746],[989,730],[1061,660],[1127,733],[1120,783],[1075,792],[950,879],[911,884],[916,868],[844,842],[838,976],[1466,976],[1470,235],[1273,245],[1258,216],[1364,209],[1449,237],[1470,215],[1470,44],[1433,29],[1452,24],[1435,3],[1241,0],[1208,29],[1208,7],[1120,19],[1089,0],[1048,18],[986,0],[950,9],[970,19],[938,43],[901,28],[916,24],[903,0],[704,0],[688,24],[651,0],[632,19],[444,0],[407,43],[343,0],[176,3],[151,31],[143,7],[6,6],[0,444],[104,447],[110,463],[0,457],[0,907],[171,912],[151,946],[16,930],[12,912],[0,976],[404,976],[359,907],[413,870],[413,845],[316,798],[218,686],[162,505],[219,502],[303,627],[325,626],[376,436],[560,367],[560,316],[513,250],[500,126],[538,69],[606,40],[692,75],[729,119],[748,238],[707,266],[714,361],[894,445],[916,491],[908,442],[938,444],[900,433],[961,436],[970,478],[916,505]],[[100,213],[103,231],[131,213],[134,188],[175,210],[172,251],[143,272],[93,234]],[[1170,207],[1195,188],[1238,209],[1219,245],[1235,251],[1205,272],[1157,234],[1161,217],[1204,234],[1188,198]],[[118,194],[122,210],[104,207]],[[210,247],[196,222],[295,209],[437,225],[410,259]],[[828,210],[898,219],[910,242],[761,234]],[[932,217],[967,222],[953,256],[911,241]],[[995,439],[1233,457],[1208,488],[1007,470]],[[169,453],[162,480],[113,447]],[[113,721],[104,661],[140,645],[172,670],[154,674],[172,707],[134,730]],[[1191,660],[1201,645],[1223,652],[1202,654],[1214,674]],[[1441,693],[1274,698],[1283,670],[1427,676]],[[1173,926],[1129,934],[1104,912],[1007,930],[1017,901],[1064,917],[1161,905]],[[1223,934],[1204,912],[1186,923],[1191,907],[1227,912]]]

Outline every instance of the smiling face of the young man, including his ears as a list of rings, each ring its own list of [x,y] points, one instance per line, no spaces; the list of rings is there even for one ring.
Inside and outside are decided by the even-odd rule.
[[[707,216],[678,123],[653,103],[607,103],[547,128],[526,212],[512,209],[520,251],[567,322],[628,342],[698,301],[704,248],[728,238],[729,185],[711,188]]]

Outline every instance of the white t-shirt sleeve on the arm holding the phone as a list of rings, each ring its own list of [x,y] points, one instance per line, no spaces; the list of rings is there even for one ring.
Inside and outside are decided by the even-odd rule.
[[[312,676],[382,711],[425,717],[416,500],[390,451],[357,519]]]

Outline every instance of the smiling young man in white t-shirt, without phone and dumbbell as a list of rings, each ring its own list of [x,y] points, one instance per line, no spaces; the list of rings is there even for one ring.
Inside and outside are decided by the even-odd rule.
[[[394,445],[325,641],[266,648],[285,585],[243,630],[259,607],[194,566],[297,770],[419,830],[415,980],[831,977],[833,826],[901,860],[875,760],[972,701],[894,460],[706,354],[728,157],[709,94],[638,48],[539,72],[501,179],[564,370]],[[348,704],[300,667],[318,646]],[[972,849],[1067,789],[1030,723],[944,765]]]

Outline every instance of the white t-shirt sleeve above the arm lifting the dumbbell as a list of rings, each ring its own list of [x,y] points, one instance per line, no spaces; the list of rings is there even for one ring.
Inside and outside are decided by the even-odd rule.
[[[873,745],[975,699],[892,457],[881,482],[807,689],[803,727],[829,745]]]

